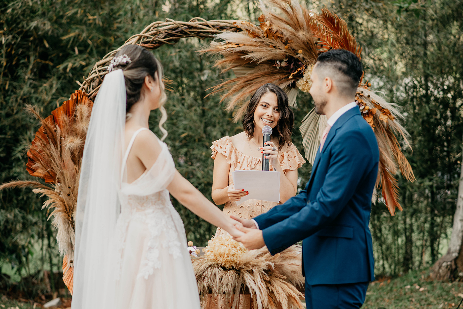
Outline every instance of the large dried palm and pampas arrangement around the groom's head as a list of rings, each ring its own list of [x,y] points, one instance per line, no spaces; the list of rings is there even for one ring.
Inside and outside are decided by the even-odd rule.
[[[267,6],[268,7],[267,7]],[[361,48],[349,33],[344,20],[327,9],[315,13],[296,0],[268,0],[261,3],[263,15],[259,25],[248,21],[234,23],[241,31],[224,31],[210,48],[201,52],[219,54],[216,66],[224,71],[232,69],[236,78],[226,80],[212,93],[226,91],[227,110],[234,111],[238,121],[247,108],[249,97],[261,85],[271,82],[288,94],[294,105],[298,88],[308,92],[313,65],[320,53],[330,49],[347,49],[358,57]],[[376,188],[382,187],[382,197],[392,216],[395,208],[402,210],[398,201],[398,186],[394,175],[398,169],[408,181],[414,181],[412,168],[400,151],[396,135],[410,147],[407,131],[394,121],[402,115],[394,104],[370,90],[371,84],[360,80],[357,103],[363,118],[375,131],[380,149],[379,173]],[[306,157],[313,164],[320,144],[326,117],[310,111],[300,126]],[[376,196],[373,197],[373,201]]]

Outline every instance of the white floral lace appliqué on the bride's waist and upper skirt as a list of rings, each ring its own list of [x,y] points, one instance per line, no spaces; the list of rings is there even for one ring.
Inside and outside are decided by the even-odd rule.
[[[174,259],[181,257],[182,247],[179,233],[185,234],[181,217],[170,202],[169,191],[163,190],[147,196],[129,195],[127,205],[122,206],[119,216],[119,267],[121,270],[122,254],[124,253],[126,233],[129,222],[138,221],[148,225],[149,241],[146,257],[137,277],[148,277],[154,269],[161,268],[159,250],[168,249]],[[162,239],[162,241],[161,241]],[[186,244],[185,244],[186,245]]]

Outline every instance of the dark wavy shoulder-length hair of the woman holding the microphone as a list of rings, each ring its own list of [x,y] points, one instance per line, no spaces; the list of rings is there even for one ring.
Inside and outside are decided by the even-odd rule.
[[[293,134],[294,126],[294,112],[288,105],[288,96],[284,90],[275,84],[265,84],[252,95],[246,113],[243,117],[243,129],[248,135],[248,138],[254,136],[254,112],[256,111],[257,105],[260,99],[265,93],[275,93],[276,100],[278,102],[278,109],[280,110],[280,117],[278,122],[272,130],[272,136],[278,139],[278,149],[281,151],[282,148],[287,145],[291,146],[291,136]]]

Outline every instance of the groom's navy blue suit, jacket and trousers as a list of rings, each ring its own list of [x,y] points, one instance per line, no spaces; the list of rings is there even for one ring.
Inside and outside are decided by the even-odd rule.
[[[254,218],[271,254],[303,240],[307,308],[359,308],[368,282],[375,279],[368,225],[378,161],[375,134],[358,107],[354,107],[330,129],[321,153],[317,152],[305,189]],[[307,299],[315,293],[313,302],[323,302],[324,298],[333,301],[335,296],[319,294],[334,293],[333,287],[338,289],[338,298],[343,297],[340,288],[347,289],[344,294],[352,291],[355,294],[358,283],[363,283],[360,288],[363,299],[344,299],[347,303],[361,301],[358,306],[344,306],[342,300],[318,306]]]

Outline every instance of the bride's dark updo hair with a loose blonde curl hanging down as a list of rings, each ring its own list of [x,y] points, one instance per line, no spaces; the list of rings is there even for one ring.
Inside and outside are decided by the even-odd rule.
[[[164,108],[167,96],[164,92],[164,83],[162,81],[163,66],[156,59],[156,57],[138,45],[126,45],[114,56],[127,55],[130,58],[130,62],[120,62],[117,66],[114,66],[114,70],[122,69],[125,77],[125,91],[127,93],[126,103],[126,119],[131,117],[129,111],[132,106],[137,103],[142,96],[141,90],[146,76],[151,76],[154,80],[159,80],[159,86],[161,87],[161,98],[159,99],[159,111],[161,111],[161,120],[159,120],[159,129],[163,132],[161,141],[167,136],[167,130],[163,128],[163,124],[167,120],[167,112]]]

